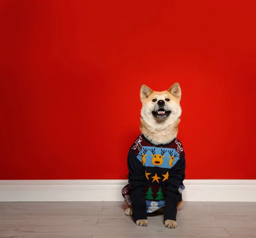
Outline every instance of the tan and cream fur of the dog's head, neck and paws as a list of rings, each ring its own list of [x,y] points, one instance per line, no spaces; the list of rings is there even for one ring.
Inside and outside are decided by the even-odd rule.
[[[152,115],[152,111],[156,110],[157,104],[153,99],[164,100],[165,110],[172,113],[165,119],[156,119]],[[170,99],[166,102],[166,99]],[[181,107],[181,89],[180,84],[175,83],[169,90],[163,92],[155,92],[146,85],[142,85],[140,89],[140,100],[142,102],[140,130],[142,134],[150,140],[154,145],[168,144],[178,133],[178,125],[180,123]],[[177,210],[180,210],[182,201],[177,204]],[[127,203],[125,215],[133,215],[131,206]],[[138,220],[136,224],[139,226],[148,226],[148,220]],[[176,228],[177,222],[166,220],[165,226],[168,228]]]

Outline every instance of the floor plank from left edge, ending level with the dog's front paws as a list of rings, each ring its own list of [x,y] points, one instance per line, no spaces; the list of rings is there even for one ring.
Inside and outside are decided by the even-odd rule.
[[[96,226],[98,218],[0,219],[0,226]]]

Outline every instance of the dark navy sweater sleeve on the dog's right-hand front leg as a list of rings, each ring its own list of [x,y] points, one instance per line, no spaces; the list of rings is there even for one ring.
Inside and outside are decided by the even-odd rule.
[[[176,221],[177,215],[177,203],[180,197],[178,191],[180,183],[185,178],[185,154],[179,161],[170,169],[169,178],[166,183],[166,203],[164,209],[164,221],[173,220]]]

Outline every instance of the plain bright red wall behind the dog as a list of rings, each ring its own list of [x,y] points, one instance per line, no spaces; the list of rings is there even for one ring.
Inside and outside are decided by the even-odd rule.
[[[256,179],[254,2],[0,1],[0,179],[125,179],[176,81],[187,179]]]

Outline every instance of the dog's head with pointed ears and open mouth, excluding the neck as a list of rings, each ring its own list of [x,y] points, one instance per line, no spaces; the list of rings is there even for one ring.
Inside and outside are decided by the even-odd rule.
[[[146,85],[142,85],[140,89],[141,117],[150,126],[171,125],[180,118],[180,99],[181,89],[178,83],[163,92],[155,92]]]

